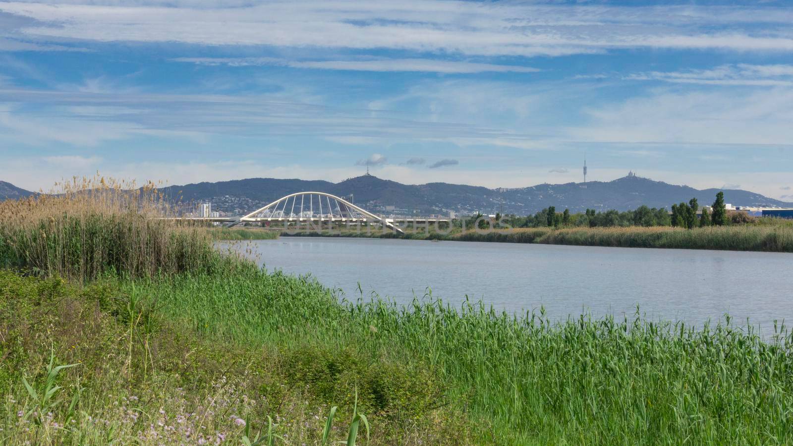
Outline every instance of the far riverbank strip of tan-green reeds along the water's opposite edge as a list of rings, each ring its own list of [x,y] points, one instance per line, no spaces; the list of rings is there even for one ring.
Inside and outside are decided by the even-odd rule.
[[[518,228],[419,232],[404,235],[392,231],[324,231],[284,233],[282,236],[338,236],[406,238],[411,240],[456,240],[501,243],[569,244],[617,248],[715,249],[727,251],[793,252],[790,225],[731,225],[697,229],[665,226],[644,228]]]

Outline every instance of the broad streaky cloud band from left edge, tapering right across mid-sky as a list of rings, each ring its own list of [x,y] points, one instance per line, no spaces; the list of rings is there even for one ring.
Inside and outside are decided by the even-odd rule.
[[[97,145],[130,136],[322,136],[343,144],[389,139],[487,139],[507,130],[336,108],[290,94],[151,94],[0,89],[0,135],[30,144]]]

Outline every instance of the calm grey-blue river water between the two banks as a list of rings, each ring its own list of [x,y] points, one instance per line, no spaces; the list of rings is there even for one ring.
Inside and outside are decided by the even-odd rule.
[[[460,302],[553,319],[590,312],[621,317],[636,306],[655,319],[702,324],[730,313],[768,333],[793,321],[793,255],[544,244],[282,237],[236,245],[270,271],[311,273],[348,298],[372,293],[410,302]]]

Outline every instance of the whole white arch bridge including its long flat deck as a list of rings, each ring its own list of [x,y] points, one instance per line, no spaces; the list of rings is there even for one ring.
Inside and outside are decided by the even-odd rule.
[[[183,218],[185,219],[185,218]],[[381,217],[348,202],[344,198],[325,192],[297,192],[271,202],[243,217],[193,217],[190,220],[227,222],[228,226],[240,223],[260,223],[262,225],[283,226],[297,229],[332,229],[355,225],[381,225],[397,233],[404,233],[400,225],[412,223],[429,225],[449,220],[426,217],[388,218]]]

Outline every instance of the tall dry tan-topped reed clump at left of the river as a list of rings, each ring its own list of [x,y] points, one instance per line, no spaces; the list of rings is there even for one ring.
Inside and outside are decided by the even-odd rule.
[[[180,227],[154,183],[96,176],[0,202],[0,267],[95,279],[205,270],[219,260],[203,229]]]

